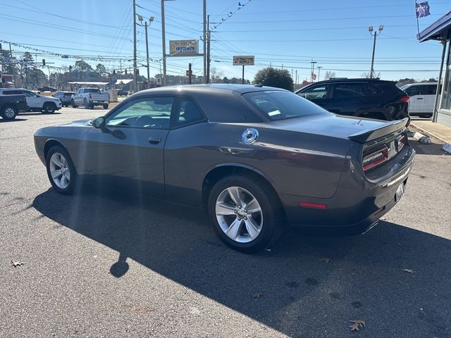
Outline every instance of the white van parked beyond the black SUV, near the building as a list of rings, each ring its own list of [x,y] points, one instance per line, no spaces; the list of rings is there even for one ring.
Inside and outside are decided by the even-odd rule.
[[[437,82],[405,84],[400,89],[410,96],[409,115],[418,115],[422,118],[430,118],[432,116]]]

